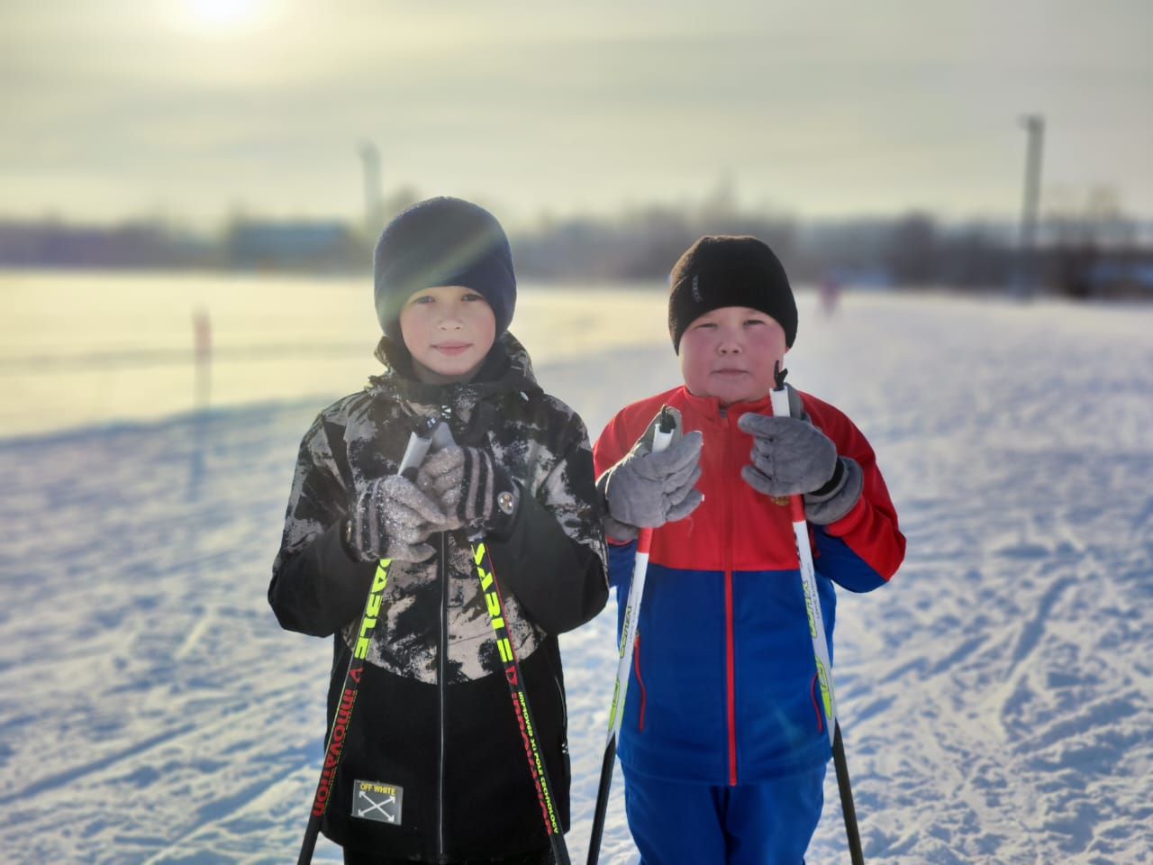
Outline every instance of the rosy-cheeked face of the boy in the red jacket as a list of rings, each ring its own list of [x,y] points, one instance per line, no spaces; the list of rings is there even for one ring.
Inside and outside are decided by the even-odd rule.
[[[721,405],[752,403],[775,384],[785,356],[785,331],[776,318],[747,307],[721,307],[700,316],[680,337],[680,374],[689,393]]]

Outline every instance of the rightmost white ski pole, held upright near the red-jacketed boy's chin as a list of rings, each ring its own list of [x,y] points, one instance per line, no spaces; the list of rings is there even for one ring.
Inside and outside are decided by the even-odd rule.
[[[785,389],[787,369],[777,361],[774,375],[776,389],[770,392],[773,414],[787,418],[789,391]],[[845,760],[845,744],[841,738],[841,722],[837,720],[837,698],[832,691],[832,664],[829,661],[829,644],[824,635],[824,616],[821,599],[816,594],[816,573],[813,567],[813,549],[808,542],[808,522],[805,520],[805,499],[789,496],[793,534],[797,537],[797,558],[800,562],[801,588],[805,593],[805,610],[808,614],[808,630],[813,637],[813,655],[816,660],[816,679],[821,685],[824,702],[826,727],[832,745],[832,762],[837,769],[837,789],[841,791],[841,811],[845,818],[845,834],[849,836],[849,855],[853,865],[865,865],[861,852],[861,836],[857,827],[857,808],[853,806],[853,790],[849,782],[849,762]]]

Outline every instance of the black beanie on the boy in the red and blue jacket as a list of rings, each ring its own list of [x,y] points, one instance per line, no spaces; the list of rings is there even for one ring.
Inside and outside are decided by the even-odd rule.
[[[706,235],[691,246],[669,274],[669,334],[680,354],[688,325],[721,307],[748,307],[773,316],[797,338],[797,302],[785,269],[756,238]]]

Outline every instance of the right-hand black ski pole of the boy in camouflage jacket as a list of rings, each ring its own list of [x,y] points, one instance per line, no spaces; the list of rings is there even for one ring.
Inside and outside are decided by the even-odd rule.
[[[528,758],[528,769],[533,776],[533,785],[536,788],[536,800],[544,818],[544,830],[549,835],[552,858],[556,865],[571,865],[564,829],[560,827],[560,817],[557,814],[556,799],[552,797],[552,782],[549,781],[544,754],[536,739],[536,724],[528,706],[528,691],[525,687],[525,678],[520,675],[517,649],[513,648],[508,626],[505,624],[504,596],[500,592],[500,584],[497,581],[496,570],[492,567],[492,557],[483,537],[470,539],[470,543],[476,577],[481,581],[481,592],[484,593],[489,620],[492,623],[492,634],[496,637],[497,650],[500,653],[500,663],[504,664],[505,680],[508,683],[508,693],[512,697],[520,737],[525,743],[525,755]]]

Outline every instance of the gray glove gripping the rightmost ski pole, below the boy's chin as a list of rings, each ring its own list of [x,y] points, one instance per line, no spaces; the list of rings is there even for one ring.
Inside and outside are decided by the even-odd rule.
[[[864,487],[860,466],[838,457],[828,436],[808,418],[769,418],[748,413],[737,422],[753,436],[752,465],[740,471],[749,487],[766,496],[805,496],[805,518],[827,525],[857,504]]]

